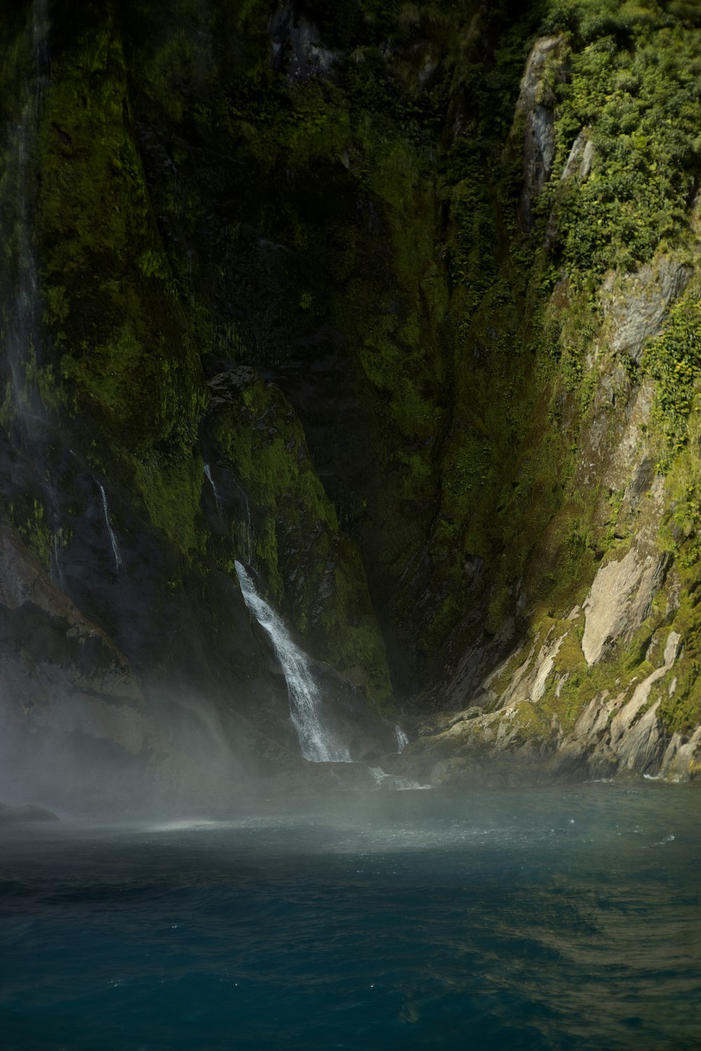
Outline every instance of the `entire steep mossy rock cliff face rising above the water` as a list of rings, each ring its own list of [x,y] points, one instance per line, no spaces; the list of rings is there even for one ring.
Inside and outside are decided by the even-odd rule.
[[[439,782],[695,774],[701,27],[667,7],[2,5],[22,740],[139,754],[206,699],[294,766],[239,560],[358,756],[401,708]]]

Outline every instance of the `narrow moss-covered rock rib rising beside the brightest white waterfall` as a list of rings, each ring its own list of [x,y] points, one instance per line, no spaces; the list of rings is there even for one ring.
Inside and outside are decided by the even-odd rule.
[[[359,678],[369,699],[390,710],[385,647],[363,563],[341,533],[289,403],[256,379],[218,406],[209,429],[251,501],[254,558],[272,601],[315,656]]]

